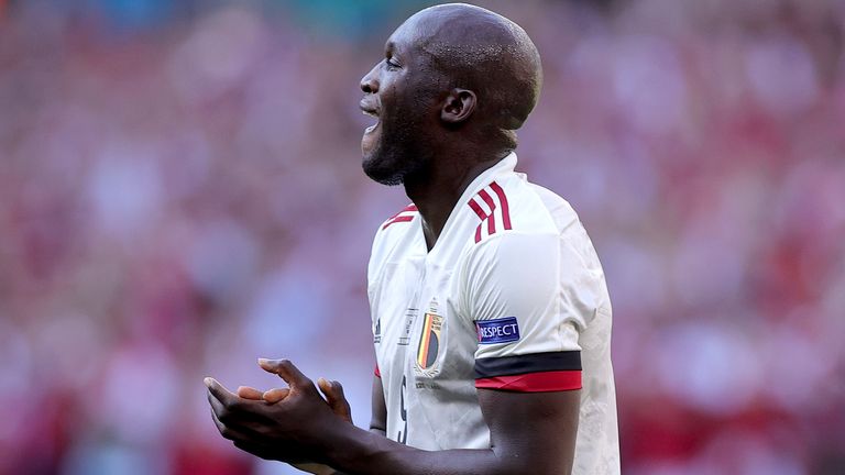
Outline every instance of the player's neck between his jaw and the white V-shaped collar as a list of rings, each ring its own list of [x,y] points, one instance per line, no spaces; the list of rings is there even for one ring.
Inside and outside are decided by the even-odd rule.
[[[435,246],[458,200],[479,175],[509,152],[437,155],[426,173],[406,177],[405,192],[422,217],[428,250]]]

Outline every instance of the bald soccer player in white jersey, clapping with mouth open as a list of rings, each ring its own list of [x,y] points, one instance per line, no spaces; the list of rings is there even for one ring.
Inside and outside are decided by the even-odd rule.
[[[578,216],[514,172],[541,85],[528,35],[491,11],[422,10],[363,78],[363,168],[413,205],[376,231],[371,430],[338,383],[261,361],[289,388],[206,379],[234,444],[314,473],[616,474],[611,302]],[[336,472],[337,471],[337,472]]]

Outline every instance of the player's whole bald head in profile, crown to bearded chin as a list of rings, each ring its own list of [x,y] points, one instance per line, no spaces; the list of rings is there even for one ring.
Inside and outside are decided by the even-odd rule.
[[[364,172],[406,188],[472,175],[516,148],[541,82],[537,48],[511,20],[462,3],[416,13],[361,79],[361,109],[376,118],[361,139]]]

